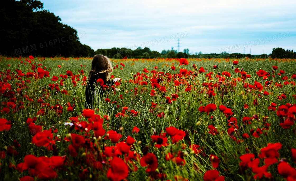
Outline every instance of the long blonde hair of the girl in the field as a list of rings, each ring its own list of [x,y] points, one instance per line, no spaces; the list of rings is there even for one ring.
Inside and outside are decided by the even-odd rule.
[[[94,73],[105,73],[107,80],[110,78],[110,73],[112,72],[112,64],[108,57],[104,55],[95,55],[91,62],[91,71],[89,71],[88,80],[91,79]],[[96,73],[97,74],[97,73]]]

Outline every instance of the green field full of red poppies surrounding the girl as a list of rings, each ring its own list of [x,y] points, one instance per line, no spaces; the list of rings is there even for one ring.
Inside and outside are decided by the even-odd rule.
[[[91,61],[0,56],[0,180],[296,180],[296,60]]]

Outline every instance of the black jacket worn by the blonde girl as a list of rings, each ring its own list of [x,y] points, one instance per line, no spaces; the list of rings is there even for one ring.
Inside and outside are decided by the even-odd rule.
[[[99,95],[102,97],[104,95],[104,92],[106,90],[110,90],[110,89],[105,89],[103,90],[103,86],[101,86],[99,83],[97,83],[96,80],[98,79],[102,79],[104,81],[103,85],[107,85],[109,86],[109,88],[114,85],[114,81],[113,80],[108,80],[107,81],[107,77],[105,73],[94,73],[94,75],[92,75],[91,79],[87,82],[86,85],[86,89],[85,89],[85,98],[86,98],[86,104],[85,107],[86,108],[90,108],[93,109],[93,100],[94,100],[94,94],[95,94],[95,85],[96,86],[100,86],[101,88],[99,88]],[[96,93],[98,93],[96,91]]]

